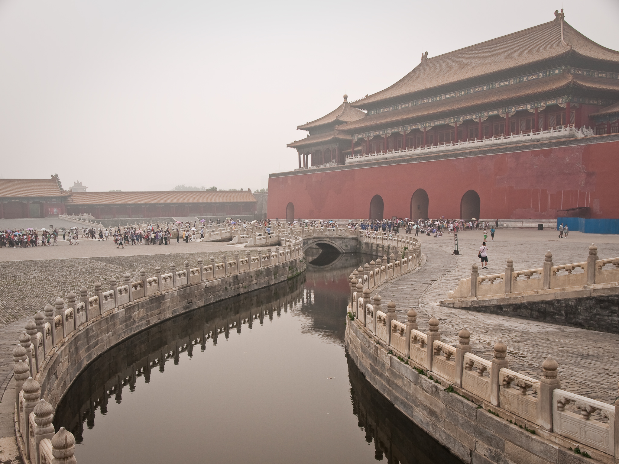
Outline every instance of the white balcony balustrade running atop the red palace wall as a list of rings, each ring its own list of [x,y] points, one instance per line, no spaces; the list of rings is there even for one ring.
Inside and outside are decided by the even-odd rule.
[[[376,158],[381,160],[398,157],[422,156],[430,153],[444,152],[447,150],[466,150],[469,148],[482,148],[490,145],[509,144],[511,142],[528,142],[529,140],[544,140],[544,139],[559,139],[562,137],[581,138],[595,135],[595,132],[589,127],[576,128],[572,126],[553,127],[548,131],[540,132],[520,132],[519,134],[500,135],[489,139],[474,139],[462,140],[461,142],[450,142],[438,145],[425,145],[418,148],[402,148],[401,150],[387,150],[386,152],[365,153],[360,155],[349,155],[346,157],[346,164],[360,163],[363,161],[372,161]],[[312,166],[319,168],[324,166]]]

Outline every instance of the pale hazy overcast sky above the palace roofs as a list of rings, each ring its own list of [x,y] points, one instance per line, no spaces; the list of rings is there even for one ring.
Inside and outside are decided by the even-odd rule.
[[[619,49],[618,0],[0,0],[0,177],[261,188],[298,124],[554,19]],[[515,53],[515,51],[506,51]],[[457,72],[457,70],[454,70]]]

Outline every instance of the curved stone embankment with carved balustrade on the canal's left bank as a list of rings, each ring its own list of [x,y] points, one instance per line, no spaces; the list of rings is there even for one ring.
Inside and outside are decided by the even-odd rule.
[[[282,238],[284,239],[284,238]],[[54,434],[53,413],[58,402],[85,367],[111,346],[142,330],[184,312],[247,291],[286,281],[305,270],[301,239],[285,238],[285,245],[261,256],[239,257],[202,264],[130,281],[110,279],[110,290],[95,283],[95,296],[82,287],[80,297],[56,299],[26,324],[20,344],[13,350],[15,373],[15,432],[26,464],[50,463],[67,457],[75,462],[74,437],[61,427]],[[56,461],[54,461],[56,462]]]

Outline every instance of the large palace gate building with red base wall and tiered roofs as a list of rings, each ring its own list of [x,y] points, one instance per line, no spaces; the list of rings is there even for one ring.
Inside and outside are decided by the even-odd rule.
[[[271,174],[268,214],[619,218],[618,104],[619,51],[556,11],[526,30],[424,53],[395,84],[345,101],[359,111],[349,121],[334,117],[340,107],[298,126],[310,135],[288,147],[304,162]],[[343,159],[329,163],[325,139]]]

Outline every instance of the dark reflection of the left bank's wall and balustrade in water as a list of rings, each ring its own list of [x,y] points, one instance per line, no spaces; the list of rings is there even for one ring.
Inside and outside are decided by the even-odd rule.
[[[219,337],[228,339],[230,332],[241,333],[243,325],[253,329],[254,323],[262,325],[264,319],[279,317],[282,311],[286,313],[303,302],[308,296],[300,279],[302,277],[164,321],[106,351],[67,391],[57,408],[54,423],[65,424],[77,443],[82,442],[84,423],[92,428],[95,411],[99,409],[105,415],[112,398],[121,403],[123,390],[129,387],[129,391],[134,392],[139,377],[149,383],[153,370],[164,372],[166,363],[179,364],[181,354],[186,353],[191,358],[194,349],[205,351],[207,343],[217,345]],[[148,354],[144,354],[145,351]]]

